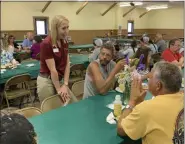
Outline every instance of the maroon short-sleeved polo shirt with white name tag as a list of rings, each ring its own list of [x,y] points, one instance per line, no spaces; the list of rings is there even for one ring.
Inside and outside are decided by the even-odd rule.
[[[40,73],[50,75],[50,70],[46,64],[47,59],[54,59],[55,67],[59,77],[63,77],[68,58],[68,42],[61,40],[61,47],[53,47],[51,37],[46,37],[40,45]]]

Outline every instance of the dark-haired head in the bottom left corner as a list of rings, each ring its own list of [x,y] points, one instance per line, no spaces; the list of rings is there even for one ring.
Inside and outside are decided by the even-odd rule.
[[[24,116],[13,113],[0,119],[1,144],[37,144],[33,125]]]

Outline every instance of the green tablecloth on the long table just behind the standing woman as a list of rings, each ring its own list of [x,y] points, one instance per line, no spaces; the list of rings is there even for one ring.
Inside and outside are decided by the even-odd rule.
[[[70,61],[71,65],[73,64],[84,64],[85,67],[88,66],[89,60],[88,60],[88,55],[73,55],[70,54]],[[27,64],[33,63],[33,67],[27,67]],[[40,70],[40,62],[39,61],[33,61],[33,62],[24,62],[21,63],[21,65],[18,65],[16,69],[7,69],[6,72],[0,75],[0,84],[5,83],[9,78],[20,75],[20,74],[25,74],[28,73],[31,75],[31,78],[37,78]]]

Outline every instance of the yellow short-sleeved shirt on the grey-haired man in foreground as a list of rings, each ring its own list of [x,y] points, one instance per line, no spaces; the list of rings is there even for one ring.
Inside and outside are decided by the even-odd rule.
[[[184,108],[184,95],[160,95],[137,105],[121,122],[133,140],[142,144],[173,144],[176,119]]]

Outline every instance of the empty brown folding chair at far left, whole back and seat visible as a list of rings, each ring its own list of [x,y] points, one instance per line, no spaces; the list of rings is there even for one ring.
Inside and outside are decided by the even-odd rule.
[[[6,99],[7,106],[9,107],[9,100],[28,96],[31,99],[31,91],[28,82],[31,80],[30,75],[23,74],[10,78],[4,87],[3,95]],[[22,87],[18,87],[21,85]]]

